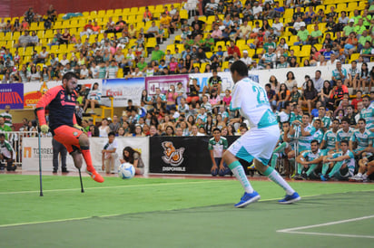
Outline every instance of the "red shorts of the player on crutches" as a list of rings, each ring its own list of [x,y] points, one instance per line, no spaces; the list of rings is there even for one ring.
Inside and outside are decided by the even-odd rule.
[[[54,129],[54,139],[63,144],[69,153],[76,148],[80,148],[79,137],[81,134],[83,134],[83,131],[66,125]]]

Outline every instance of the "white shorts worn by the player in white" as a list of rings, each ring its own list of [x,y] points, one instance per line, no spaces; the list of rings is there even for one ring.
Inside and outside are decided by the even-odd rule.
[[[235,157],[251,162],[253,158],[268,165],[271,154],[280,138],[277,125],[264,129],[250,129],[241,138],[236,139],[228,149]]]

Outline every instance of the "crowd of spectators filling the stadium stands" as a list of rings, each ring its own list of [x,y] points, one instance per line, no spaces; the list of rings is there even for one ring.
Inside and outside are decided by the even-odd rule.
[[[248,129],[248,122],[241,118],[239,112],[228,108],[231,91],[221,89],[221,81],[217,75],[217,72],[227,69],[223,64],[230,66],[231,62],[241,60],[248,65],[249,70],[316,66],[315,74],[305,75],[303,82],[296,81],[293,72],[287,72],[282,79],[271,76],[269,83],[265,85],[268,99],[278,116],[281,129],[283,125],[287,126],[285,123],[288,123],[289,129],[292,130],[290,131],[292,134],[287,133],[289,130],[283,130],[286,132],[285,136],[290,135],[292,138],[292,135],[298,133],[298,127],[308,129],[308,131],[299,130],[299,135],[308,137],[306,140],[309,149],[312,139],[317,139],[320,149],[327,149],[324,155],[327,158],[323,160],[325,165],[340,162],[334,159],[341,156],[348,156],[344,159],[350,159],[351,155],[348,154],[347,148],[356,159],[356,165],[359,165],[361,159],[372,160],[370,152],[374,131],[372,126],[374,68],[369,69],[367,62],[374,53],[372,49],[374,20],[371,20],[373,3],[369,2],[363,11],[353,10],[353,16],[349,18],[345,11],[339,14],[333,7],[328,14],[324,14],[321,9],[317,14],[314,13],[313,7],[320,5],[320,2],[315,0],[309,1],[308,5],[301,5],[300,1],[286,1],[284,8],[280,7],[278,2],[273,5],[269,1],[265,2],[261,5],[257,1],[246,1],[242,5],[238,0],[231,3],[203,1],[203,4],[206,4],[203,5],[204,14],[214,15],[215,18],[211,26],[197,15],[193,16],[191,24],[188,24],[187,20],[176,21],[178,10],[167,9],[160,17],[162,22],[160,20],[159,27],[154,22],[153,14],[146,10],[144,21],[153,23],[145,32],[141,30],[132,33],[132,24],[129,26],[121,19],[114,23],[110,18],[103,30],[94,29],[92,22],[88,22],[84,27],[84,33],[81,33],[82,38],[103,31],[103,39],[99,41],[98,36],[95,36],[94,43],[89,43],[88,37],[84,41],[77,38],[75,43],[68,30],[65,30],[64,34],[57,31],[54,42],[75,43],[74,49],[75,52],[79,52],[79,58],[74,53],[69,59],[64,54],[59,60],[56,54],[52,52],[49,54],[44,47],[42,52],[34,54],[33,62],[23,64],[19,72],[12,72],[10,69],[15,65],[13,58],[16,56],[13,56],[9,50],[3,49],[1,54],[6,62],[3,68],[5,82],[11,81],[12,77],[14,81],[58,80],[64,72],[79,73],[81,79],[116,78],[119,68],[123,70],[125,78],[199,73],[201,68],[197,64],[200,66],[205,64],[204,72],[212,72],[212,78],[208,86],[203,89],[200,89],[197,80],[193,79],[188,93],[178,84],[171,85],[167,92],[157,89],[153,97],[150,97],[147,91],[143,91],[141,106],[135,107],[132,101],[129,101],[122,117],[113,116],[113,119],[103,119],[100,127],[96,127],[92,119],[84,119],[82,125],[88,134],[94,137],[106,137],[110,131],[119,137],[210,136],[214,128],[220,129],[221,136],[224,137],[241,135]],[[284,18],[285,9],[290,7],[295,8],[291,22],[280,23],[281,18]],[[301,11],[301,7],[306,7],[305,12]],[[242,18],[240,13],[243,14]],[[220,19],[220,14],[225,16],[223,20]],[[268,18],[274,18],[272,24],[269,23]],[[172,20],[175,21],[174,24]],[[254,23],[253,28],[250,22]],[[327,33],[320,31],[320,23],[326,23]],[[312,32],[307,29],[307,25],[310,24],[313,27]],[[182,51],[175,47],[173,52],[170,50],[163,52],[157,44],[151,52],[151,62],[145,62],[144,56],[147,52],[144,48],[145,39],[154,37],[157,43],[161,44],[166,37],[163,34],[165,31],[172,33],[179,29],[182,31],[180,41],[184,48]],[[205,33],[206,30],[209,33]],[[285,32],[297,35],[297,40],[291,45],[310,44],[310,57],[304,59],[302,64],[300,64],[300,57],[295,55],[296,51],[286,42],[283,36]],[[115,33],[116,36],[108,36],[108,33]],[[134,47],[126,47],[130,39],[136,39]],[[262,52],[250,56],[248,50],[239,48],[238,41],[241,40],[246,41],[251,49]],[[217,45],[219,42],[224,43]],[[317,45],[320,45],[320,49]],[[126,54],[123,54],[123,48],[126,48]],[[357,60],[351,60],[352,54],[357,53],[360,54]],[[211,56],[207,56],[208,54]],[[348,61],[351,62],[349,69],[346,70],[342,68],[342,63]],[[48,65],[40,66],[40,63]],[[321,74],[318,67],[324,65],[330,65],[334,69],[331,74]],[[300,89],[299,85],[302,85]],[[350,92],[349,88],[351,88]],[[93,110],[94,105],[91,105],[90,99],[87,98],[88,92],[83,89],[80,93],[81,107],[84,110],[91,107]],[[354,136],[353,129],[359,130],[361,134]],[[342,136],[339,138],[340,133]],[[344,140],[348,141],[348,145],[340,142]],[[331,142],[334,146],[330,144]],[[287,145],[292,142],[290,138],[285,138],[281,140],[280,144],[282,143]],[[340,148],[343,146],[347,148]],[[340,149],[343,150],[343,155],[336,155]],[[293,152],[289,158],[298,156],[300,154]],[[306,158],[311,155],[302,154],[302,156]],[[307,167],[302,159],[299,157],[298,162]],[[352,171],[350,166],[349,176],[353,176],[354,170]],[[335,175],[336,171],[332,168],[332,165],[327,168],[325,166],[325,171],[322,170],[323,178]],[[300,175],[297,176],[304,178],[311,175],[310,173],[307,176],[301,175],[301,172],[302,167],[297,172]]]

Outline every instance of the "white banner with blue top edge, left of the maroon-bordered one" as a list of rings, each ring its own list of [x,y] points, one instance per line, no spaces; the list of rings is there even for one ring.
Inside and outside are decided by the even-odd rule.
[[[103,80],[103,96],[113,96],[114,107],[127,106],[127,100],[133,100],[133,105],[140,106],[144,78]]]

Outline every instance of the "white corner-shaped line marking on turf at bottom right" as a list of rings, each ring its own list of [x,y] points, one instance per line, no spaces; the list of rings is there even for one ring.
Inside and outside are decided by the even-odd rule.
[[[321,227],[321,226],[328,226],[328,225],[333,225],[333,224],[344,224],[344,223],[349,223],[349,222],[356,222],[356,221],[366,220],[370,218],[374,218],[374,215],[367,215],[367,216],[363,216],[359,218],[352,218],[352,219],[346,219],[346,220],[328,222],[328,223],[322,223],[322,224],[310,224],[310,225],[298,226],[298,227],[293,227],[293,228],[281,229],[281,230],[277,230],[277,233],[374,239],[374,235],[327,234],[327,233],[314,233],[314,232],[300,232],[299,231],[299,230],[310,229],[310,228]]]

